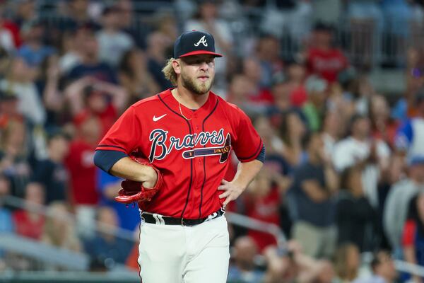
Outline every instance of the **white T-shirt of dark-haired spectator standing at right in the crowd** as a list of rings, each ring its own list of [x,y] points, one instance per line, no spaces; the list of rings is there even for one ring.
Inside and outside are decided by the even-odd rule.
[[[336,171],[342,172],[344,169],[367,159],[370,156],[371,145],[372,141],[370,140],[360,141],[353,139],[353,137],[338,141],[332,154]],[[389,146],[384,141],[377,141],[376,146],[379,164],[387,165],[390,157]],[[377,164],[368,164],[362,173],[364,194],[373,207],[378,206],[377,183],[379,174]]]

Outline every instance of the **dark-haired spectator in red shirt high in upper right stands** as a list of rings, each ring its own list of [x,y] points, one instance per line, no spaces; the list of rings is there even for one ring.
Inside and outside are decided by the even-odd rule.
[[[333,47],[333,31],[328,25],[317,24],[312,33],[311,46],[306,53],[307,69],[310,74],[322,76],[328,83],[334,83],[338,74],[348,67],[343,52]]]

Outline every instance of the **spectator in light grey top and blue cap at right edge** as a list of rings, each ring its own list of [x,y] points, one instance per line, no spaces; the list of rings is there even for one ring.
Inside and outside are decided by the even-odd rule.
[[[391,187],[384,205],[383,227],[396,255],[401,248],[409,202],[420,192],[424,192],[424,158],[415,156],[408,161],[408,178],[399,180]]]

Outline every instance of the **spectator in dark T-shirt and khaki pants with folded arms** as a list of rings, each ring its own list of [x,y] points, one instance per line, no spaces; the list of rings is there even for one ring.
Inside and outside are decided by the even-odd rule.
[[[331,199],[338,190],[338,179],[324,151],[321,135],[306,134],[302,143],[307,161],[295,168],[288,192],[292,236],[305,255],[330,258],[336,247],[335,205]]]

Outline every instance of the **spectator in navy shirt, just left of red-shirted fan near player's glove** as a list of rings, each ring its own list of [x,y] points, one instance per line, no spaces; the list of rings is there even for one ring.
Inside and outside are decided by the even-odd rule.
[[[69,201],[69,172],[64,160],[69,153],[69,136],[59,129],[49,132],[47,137],[48,158],[35,166],[34,182],[45,187],[45,203]]]

